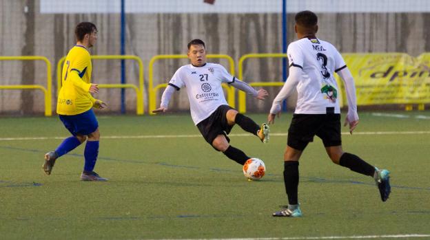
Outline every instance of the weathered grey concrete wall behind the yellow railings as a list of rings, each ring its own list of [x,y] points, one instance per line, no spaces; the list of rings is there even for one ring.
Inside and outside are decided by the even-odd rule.
[[[52,63],[54,82],[52,109],[57,92],[57,62],[74,45],[74,26],[92,21],[99,28],[99,41],[92,54],[119,54],[119,14],[41,14],[39,0],[0,0],[0,55],[46,56]],[[28,10],[25,9],[28,6]],[[430,36],[426,26],[429,13],[325,13],[318,14],[320,30],[317,36],[330,41],[341,52],[405,52],[418,56],[430,52]],[[295,40],[294,14],[288,14],[288,42]],[[281,14],[127,14],[127,54],[140,56],[145,67],[157,54],[185,54],[191,39],[203,39],[207,51],[227,54],[238,61],[249,53],[278,53],[281,45]],[[217,62],[217,60],[215,60]],[[127,82],[137,84],[138,68],[127,62]],[[155,83],[167,83],[184,60],[159,61]],[[221,61],[227,66],[227,62]],[[237,71],[237,69],[236,69]],[[120,61],[93,61],[94,83],[119,83]],[[244,80],[281,80],[280,59],[249,60],[245,64]],[[0,85],[45,83],[45,64],[31,61],[0,61]],[[265,102],[248,99],[249,111],[267,111],[279,88],[269,88]],[[160,94],[161,95],[161,94]],[[134,113],[136,96],[126,90],[127,111]],[[120,90],[101,89],[96,96],[106,100],[110,111],[119,112]],[[145,112],[147,94],[145,92]],[[294,102],[291,100],[290,102]],[[186,111],[189,107],[185,91],[174,96],[170,107]],[[0,115],[9,113],[43,114],[41,91],[0,90]]]

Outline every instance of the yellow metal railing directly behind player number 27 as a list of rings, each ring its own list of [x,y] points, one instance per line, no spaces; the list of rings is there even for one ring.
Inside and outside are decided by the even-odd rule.
[[[230,74],[232,74],[234,76],[234,61],[233,61],[233,58],[231,56],[224,55],[224,54],[207,54],[206,57],[207,58],[227,59],[227,61],[229,61],[229,65],[230,65]],[[161,83],[161,84],[158,84],[155,87],[153,87],[154,63],[155,63],[155,61],[157,61],[159,59],[177,59],[177,58],[188,58],[188,56],[185,54],[156,55],[156,56],[153,56],[150,60],[150,66],[148,68],[148,88],[149,88],[148,92],[150,95],[148,111],[150,114],[154,114],[154,113],[152,113],[152,110],[156,109],[156,94],[157,94],[158,89],[161,89],[163,87],[167,87],[166,83]],[[230,106],[234,107],[234,87],[229,86],[227,84],[223,84],[222,86],[227,90],[227,102],[228,102],[228,104]]]

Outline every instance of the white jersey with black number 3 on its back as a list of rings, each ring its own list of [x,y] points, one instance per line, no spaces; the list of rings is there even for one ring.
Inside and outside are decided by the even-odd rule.
[[[303,69],[294,113],[321,114],[327,107],[340,113],[340,91],[334,73],[346,65],[336,47],[320,39],[303,38],[290,43],[287,54],[290,67]]]

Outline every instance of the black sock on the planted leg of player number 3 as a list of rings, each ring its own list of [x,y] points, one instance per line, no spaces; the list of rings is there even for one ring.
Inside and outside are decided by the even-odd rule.
[[[287,192],[288,203],[290,205],[298,204],[298,162],[284,162],[284,184]]]

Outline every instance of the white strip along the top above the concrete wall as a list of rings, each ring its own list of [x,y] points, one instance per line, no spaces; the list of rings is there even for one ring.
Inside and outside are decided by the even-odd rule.
[[[127,13],[274,13],[282,0],[125,0]],[[117,13],[119,0],[41,0],[41,13]],[[429,0],[287,0],[287,12],[430,12]]]

